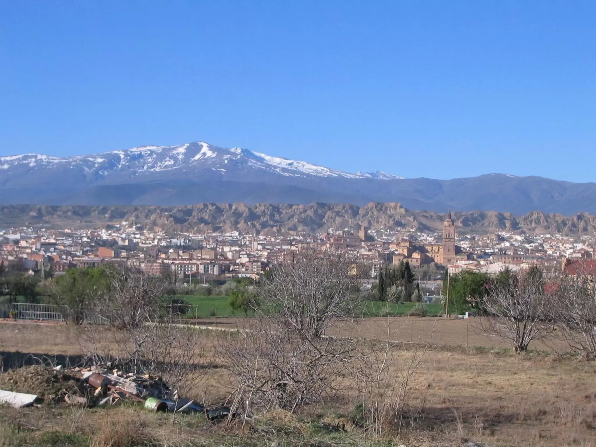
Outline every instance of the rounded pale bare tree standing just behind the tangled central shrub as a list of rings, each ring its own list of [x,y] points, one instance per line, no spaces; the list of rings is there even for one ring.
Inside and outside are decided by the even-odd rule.
[[[352,316],[365,268],[344,254],[304,250],[272,266],[256,311],[302,339],[320,339],[331,321]]]

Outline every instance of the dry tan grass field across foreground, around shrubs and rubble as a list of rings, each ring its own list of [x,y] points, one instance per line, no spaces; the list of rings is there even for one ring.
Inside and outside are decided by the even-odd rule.
[[[329,333],[383,337],[387,321],[342,322]],[[254,430],[244,433],[238,427],[210,426],[194,416],[180,417],[173,423],[171,415],[155,415],[133,405],[110,409],[0,408],[0,446],[23,445],[24,439],[28,445],[95,446],[271,445],[274,440],[277,445],[329,446],[460,446],[466,440],[488,446],[596,446],[596,363],[542,351],[513,355],[502,349],[506,345],[501,340],[480,333],[473,321],[398,318],[390,322],[391,338],[406,342],[396,348],[398,362],[407,362],[424,349],[421,346],[427,346],[411,377],[404,428],[396,434],[397,439],[371,442],[358,430],[348,427],[346,432],[336,432],[321,423],[329,421],[333,426],[333,421],[342,420],[352,410],[354,391],[346,383],[333,405],[308,408],[299,415],[280,413],[259,420]],[[218,327],[238,325],[241,320],[218,321]],[[216,358],[219,331],[204,332],[207,352]],[[80,355],[78,340],[77,330],[62,324],[0,324],[0,350],[11,362],[26,357],[15,352],[35,353],[37,357]],[[421,341],[429,344],[417,343]],[[196,390],[197,398],[225,398],[229,393],[226,374],[217,367],[209,371],[201,389]],[[271,427],[284,436],[266,434]],[[123,440],[116,441],[119,437]]]

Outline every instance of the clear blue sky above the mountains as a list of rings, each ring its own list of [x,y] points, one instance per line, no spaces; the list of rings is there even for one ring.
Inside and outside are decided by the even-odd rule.
[[[594,1],[0,2],[0,155],[596,181]]]

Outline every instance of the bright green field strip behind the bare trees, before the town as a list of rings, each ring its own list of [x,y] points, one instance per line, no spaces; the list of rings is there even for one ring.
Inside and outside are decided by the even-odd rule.
[[[232,312],[228,306],[227,296],[195,296],[182,295],[178,298],[183,299],[193,308],[188,312],[189,318],[203,318],[206,316],[244,316],[243,312]],[[406,315],[410,309],[414,307],[414,303],[384,303],[380,301],[367,301],[366,305],[357,312],[359,316],[385,316],[389,315]],[[441,312],[442,306],[440,304],[427,304],[428,315],[438,315]],[[250,312],[249,312],[250,315]]]

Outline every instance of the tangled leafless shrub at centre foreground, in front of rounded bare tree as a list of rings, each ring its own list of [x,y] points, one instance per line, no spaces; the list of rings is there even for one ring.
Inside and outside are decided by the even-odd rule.
[[[241,396],[237,403],[293,412],[336,390],[353,346],[343,339],[305,340],[296,331],[255,319],[249,328],[225,334],[221,353],[235,395]]]

